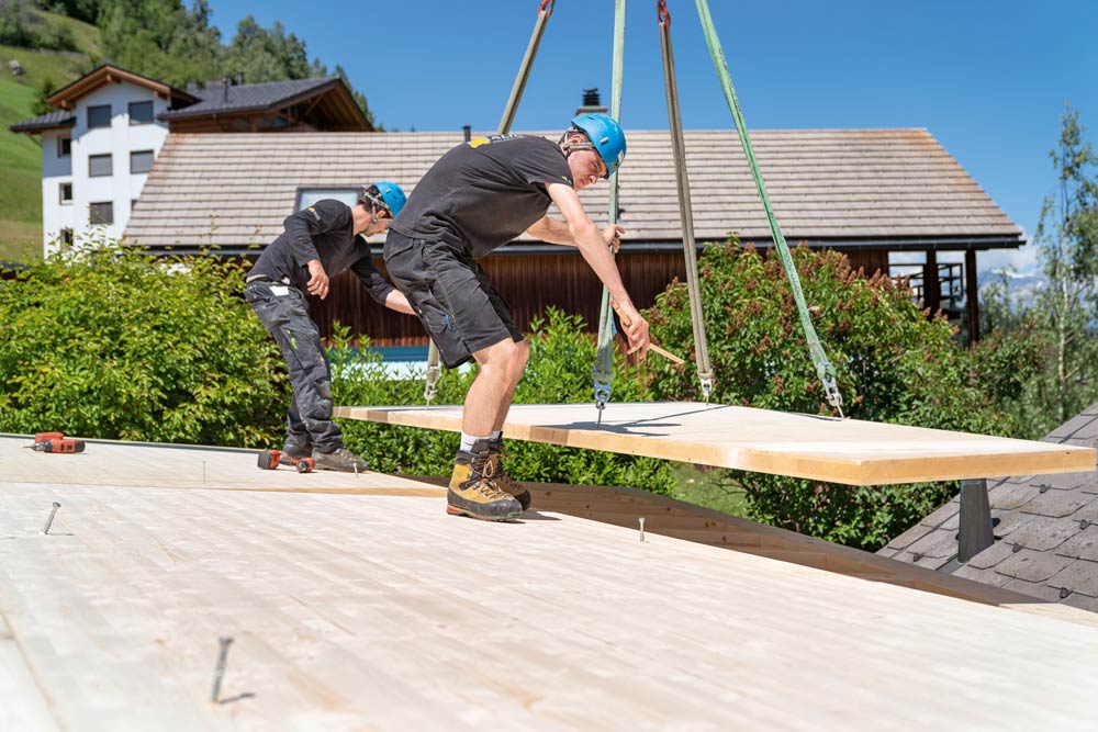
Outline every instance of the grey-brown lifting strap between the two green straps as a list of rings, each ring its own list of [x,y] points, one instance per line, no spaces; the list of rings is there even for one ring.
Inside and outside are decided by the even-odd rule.
[[[660,48],[663,52],[663,81],[668,92],[668,120],[671,126],[671,146],[675,161],[675,181],[679,189],[679,212],[683,228],[683,255],[686,260],[686,290],[690,293],[691,323],[694,328],[694,356],[697,361],[697,378],[702,394],[709,401],[713,393],[713,367],[709,364],[709,346],[705,336],[705,320],[702,312],[702,292],[697,277],[697,246],[694,241],[694,214],[690,199],[690,179],[686,174],[686,143],[683,138],[682,114],[679,110],[679,86],[675,80],[675,59],[671,48],[671,15],[666,13],[664,0],[659,1]]]

